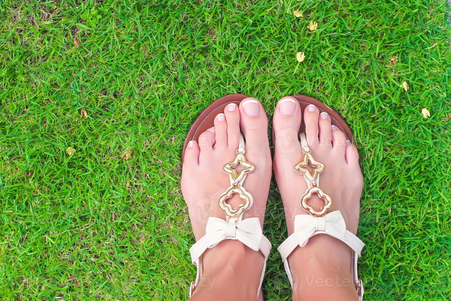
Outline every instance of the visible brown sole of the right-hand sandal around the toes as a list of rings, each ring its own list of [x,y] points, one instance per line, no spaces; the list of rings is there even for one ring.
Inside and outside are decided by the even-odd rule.
[[[320,113],[326,112],[327,114],[329,114],[329,116],[331,117],[331,124],[335,125],[337,128],[340,128],[343,132],[345,132],[346,139],[348,139],[349,141],[351,141],[352,144],[357,146],[355,139],[354,139],[354,135],[352,134],[351,128],[348,126],[345,119],[343,119],[340,116],[340,114],[338,114],[333,109],[329,109],[321,100],[318,100],[311,96],[298,94],[298,95],[293,95],[292,97],[294,97],[296,100],[298,100],[299,105],[301,106],[302,113],[304,113],[304,109],[308,105],[315,105],[319,109]],[[304,123],[301,123],[299,132],[305,132],[305,124]],[[274,130],[272,130],[272,144],[273,145],[274,145],[274,141],[276,141],[274,135],[275,135]]]

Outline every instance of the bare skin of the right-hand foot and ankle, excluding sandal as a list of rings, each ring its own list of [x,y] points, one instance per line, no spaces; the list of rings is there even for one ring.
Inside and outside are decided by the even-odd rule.
[[[273,169],[285,208],[288,235],[294,232],[295,215],[308,214],[299,205],[307,183],[295,171],[295,165],[303,160],[298,139],[301,122],[305,124],[313,158],[326,165],[319,187],[332,198],[328,212],[340,210],[347,230],[356,234],[363,188],[357,148],[346,140],[340,128],[331,126],[327,113],[320,114],[314,105],[301,112],[298,101],[288,96],[279,100],[273,116]],[[316,194],[308,203],[316,210],[324,204]],[[352,284],[351,251],[344,242],[327,234],[317,234],[304,247],[298,246],[288,257],[294,281],[293,300],[358,300]]]

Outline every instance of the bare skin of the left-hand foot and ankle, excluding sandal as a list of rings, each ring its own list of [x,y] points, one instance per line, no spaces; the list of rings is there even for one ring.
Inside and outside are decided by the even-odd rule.
[[[218,207],[219,196],[230,187],[229,176],[222,168],[235,158],[240,131],[246,160],[255,166],[243,184],[253,196],[253,206],[243,219],[258,217],[263,228],[272,173],[266,113],[255,98],[246,98],[239,106],[229,104],[218,113],[214,127],[203,132],[198,142],[190,141],[184,155],[181,188],[196,241],[205,235],[209,217],[226,219]],[[241,203],[236,195],[228,200],[233,208]],[[201,280],[190,300],[255,299],[264,262],[260,251],[236,240],[224,240],[207,249],[201,258]]]

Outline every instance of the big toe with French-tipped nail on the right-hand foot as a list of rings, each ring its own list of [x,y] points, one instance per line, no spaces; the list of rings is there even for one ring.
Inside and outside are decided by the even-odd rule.
[[[279,100],[272,117],[276,153],[296,153],[300,145],[298,133],[301,119],[301,108],[294,97],[287,96]],[[287,158],[287,156],[283,156],[283,158]]]

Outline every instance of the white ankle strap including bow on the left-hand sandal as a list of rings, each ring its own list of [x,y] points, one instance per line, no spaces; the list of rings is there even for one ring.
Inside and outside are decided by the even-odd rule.
[[[266,268],[266,260],[271,251],[271,242],[263,235],[262,228],[260,226],[260,220],[258,218],[243,219],[237,221],[236,219],[230,219],[225,221],[215,217],[210,217],[207,221],[205,236],[198,240],[190,249],[191,260],[194,265],[197,265],[196,281],[192,283],[190,289],[190,296],[194,288],[198,285],[201,269],[200,256],[207,250],[216,246],[219,242],[225,239],[235,239],[244,243],[254,251],[261,251],[265,257],[262,273],[260,275],[260,285],[258,287],[257,298],[260,293],[260,288],[263,282],[263,276]]]

